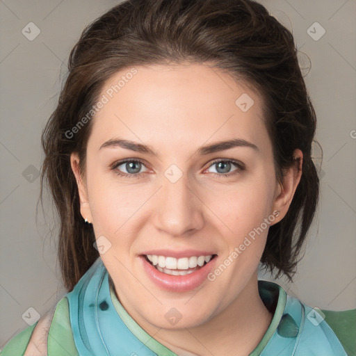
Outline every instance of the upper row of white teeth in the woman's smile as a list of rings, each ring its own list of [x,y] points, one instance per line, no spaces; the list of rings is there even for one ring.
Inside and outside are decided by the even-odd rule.
[[[187,270],[188,268],[195,268],[197,266],[204,266],[205,262],[211,260],[212,255],[208,256],[192,256],[192,257],[183,257],[176,259],[175,257],[165,257],[165,256],[156,256],[154,254],[147,254],[147,259],[152,262],[154,266],[159,268],[166,268],[168,270]],[[171,273],[169,273],[171,274]]]

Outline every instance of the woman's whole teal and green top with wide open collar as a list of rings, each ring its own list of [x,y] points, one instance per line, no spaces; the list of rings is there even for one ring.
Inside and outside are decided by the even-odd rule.
[[[312,309],[288,296],[282,286],[261,280],[259,294],[273,319],[249,356],[355,356],[355,310]],[[35,325],[8,341],[0,355],[24,355]],[[147,334],[122,307],[100,257],[56,305],[48,356],[58,355],[177,356]]]

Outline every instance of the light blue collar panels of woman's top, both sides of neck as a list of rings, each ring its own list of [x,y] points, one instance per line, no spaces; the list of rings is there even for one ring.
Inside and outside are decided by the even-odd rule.
[[[259,291],[266,307],[275,309],[275,313],[264,338],[250,356],[347,356],[339,339],[316,310],[287,296],[284,289],[273,282],[259,281]],[[163,345],[161,350],[152,350],[144,340],[138,339],[137,332],[137,337],[131,332],[137,324],[130,318],[124,322],[116,311],[110,296],[108,272],[100,257],[66,297],[80,356],[175,355]]]

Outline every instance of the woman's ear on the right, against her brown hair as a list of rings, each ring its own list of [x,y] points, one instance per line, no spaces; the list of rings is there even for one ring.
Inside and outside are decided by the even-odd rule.
[[[303,154],[300,149],[296,149],[293,152],[293,159],[294,164],[283,172],[284,177],[282,184],[277,184],[275,200],[273,202],[273,211],[279,211],[280,214],[275,219],[274,224],[278,223],[284,216],[286,216],[294,193],[296,192],[296,188],[300,182],[300,177],[302,177]]]

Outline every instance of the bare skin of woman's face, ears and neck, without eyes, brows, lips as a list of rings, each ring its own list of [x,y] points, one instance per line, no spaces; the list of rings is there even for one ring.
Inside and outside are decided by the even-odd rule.
[[[259,93],[242,81],[209,65],[145,65],[92,119],[86,176],[78,157],[71,156],[79,187],[81,214],[93,224],[95,236],[111,243],[102,260],[115,293],[131,317],[154,339],[177,355],[248,355],[272,319],[259,297],[257,268],[268,229],[246,248],[215,281],[193,291],[158,289],[147,277],[138,255],[145,250],[198,249],[215,251],[216,266],[273,211],[280,221],[300,181],[299,170],[286,170],[278,184],[272,143],[264,124]],[[121,70],[103,90],[118,83]],[[247,93],[254,104],[243,112],[235,102]],[[112,138],[149,145],[158,157],[122,147],[99,149]],[[258,147],[234,147],[199,156],[202,145],[242,138]],[[139,177],[115,161],[138,159]],[[218,170],[216,159],[235,159],[245,170]],[[183,173],[174,184],[164,173],[175,164]],[[223,168],[224,169],[224,168]],[[236,175],[223,177],[225,172]],[[136,173],[137,175],[137,173]],[[220,175],[220,177],[218,177]],[[165,314],[175,307],[182,318],[171,325]],[[248,321],[248,322],[246,322]]]

